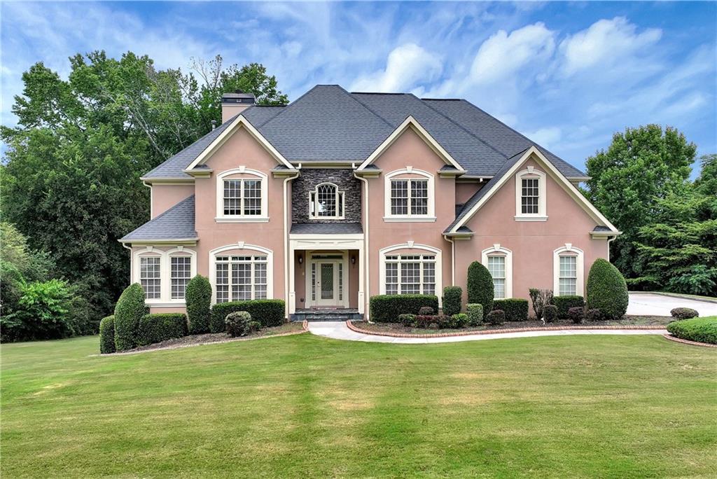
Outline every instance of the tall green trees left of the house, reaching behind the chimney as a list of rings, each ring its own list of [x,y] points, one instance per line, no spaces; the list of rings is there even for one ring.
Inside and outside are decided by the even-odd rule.
[[[156,70],[146,55],[91,52],[70,57],[65,80],[39,62],[15,97],[18,126],[1,128],[0,213],[29,247],[49,253],[49,275],[77,285],[95,318],[127,285],[118,238],[149,217],[140,176],[220,122],[222,93],[287,100],[262,65],[224,67],[218,56],[194,67]]]

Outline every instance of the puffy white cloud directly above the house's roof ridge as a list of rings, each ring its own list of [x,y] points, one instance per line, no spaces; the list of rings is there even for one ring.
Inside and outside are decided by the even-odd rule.
[[[442,70],[440,57],[417,44],[407,43],[391,50],[385,69],[359,77],[351,90],[404,92],[432,82]]]

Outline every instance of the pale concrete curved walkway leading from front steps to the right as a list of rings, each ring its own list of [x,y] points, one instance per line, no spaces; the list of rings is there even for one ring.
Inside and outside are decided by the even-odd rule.
[[[457,343],[459,341],[483,341],[504,338],[533,338],[536,336],[566,336],[571,334],[666,334],[666,329],[569,329],[563,331],[519,331],[516,333],[469,334],[465,336],[443,336],[442,338],[393,338],[376,334],[363,334],[351,331],[344,321],[309,322],[309,331],[326,338],[346,341],[366,341],[369,343],[427,344]]]

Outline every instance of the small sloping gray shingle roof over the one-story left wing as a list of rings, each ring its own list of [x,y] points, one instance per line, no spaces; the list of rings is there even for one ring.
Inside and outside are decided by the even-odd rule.
[[[194,195],[191,195],[133,232],[125,234],[120,241],[194,240],[196,237]]]

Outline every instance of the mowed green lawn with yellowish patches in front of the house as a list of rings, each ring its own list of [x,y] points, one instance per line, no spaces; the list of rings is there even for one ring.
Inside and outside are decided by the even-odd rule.
[[[0,473],[708,477],[717,351],[660,336],[1,346]]]

